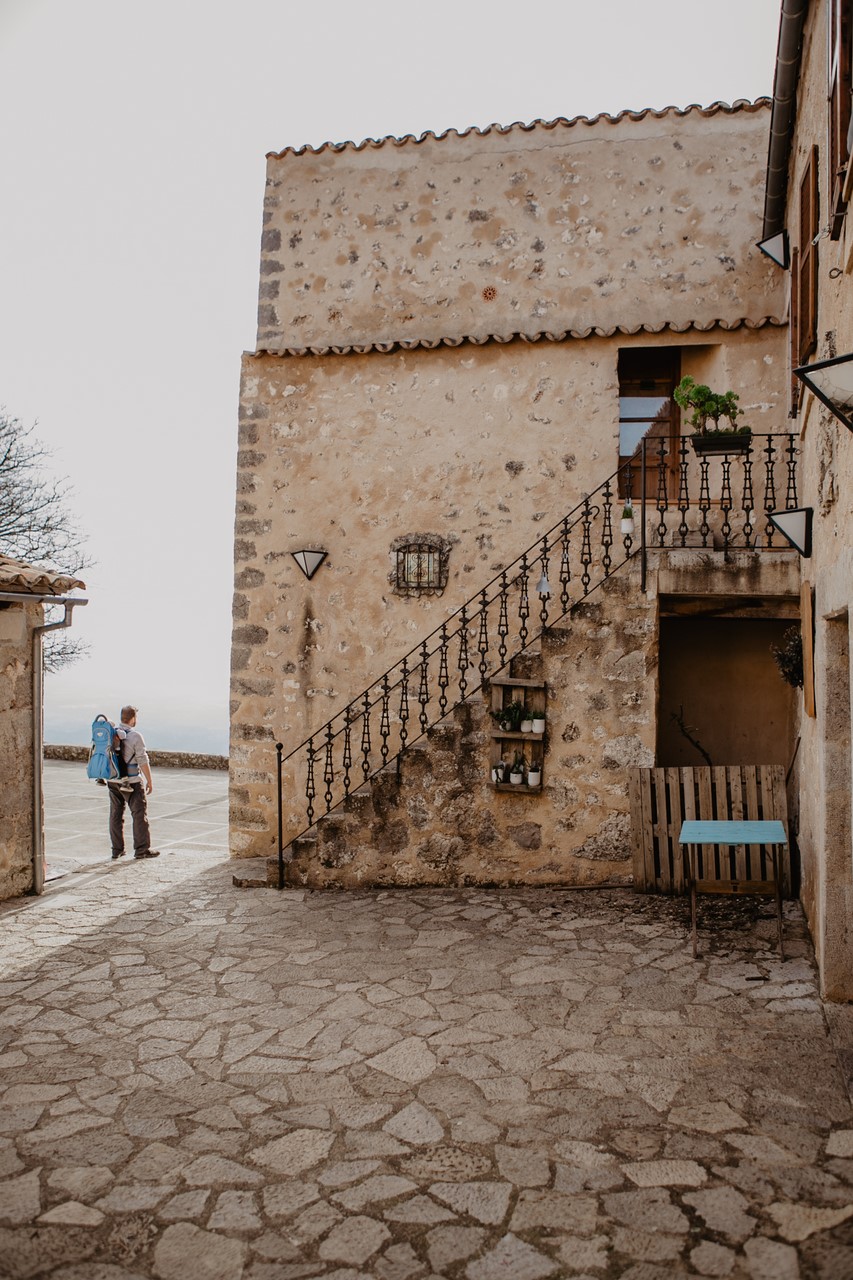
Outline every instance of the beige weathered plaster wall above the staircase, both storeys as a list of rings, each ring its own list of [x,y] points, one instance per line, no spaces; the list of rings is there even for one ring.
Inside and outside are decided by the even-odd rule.
[[[274,742],[295,748],[612,474],[620,347],[676,344],[756,431],[784,429],[785,338],[765,324],[784,282],[754,248],[767,124],[747,104],[270,157],[241,396],[234,854],[273,849]],[[441,598],[392,589],[392,547],[419,534],[451,544]],[[291,558],[306,547],[328,552],[311,582]]]

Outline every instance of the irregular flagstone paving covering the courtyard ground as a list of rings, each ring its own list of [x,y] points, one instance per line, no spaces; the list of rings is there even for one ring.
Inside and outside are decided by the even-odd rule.
[[[3,1277],[853,1275],[795,906],[780,963],[703,901],[694,961],[683,901],[234,890],[202,845],[0,908]]]

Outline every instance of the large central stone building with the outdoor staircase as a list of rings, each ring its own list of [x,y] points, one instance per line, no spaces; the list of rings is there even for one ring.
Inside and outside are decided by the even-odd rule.
[[[278,849],[277,742],[288,876],[318,884],[624,881],[638,764],[701,764],[697,741],[788,764],[794,698],[768,650],[799,563],[766,512],[798,500],[798,458],[785,276],[756,248],[770,114],[268,157],[236,856]],[[739,394],[748,465],[688,448],[688,374]],[[310,579],[300,550],[325,553]],[[489,712],[525,699],[544,736],[496,737]],[[492,767],[520,745],[543,767],[514,791]]]

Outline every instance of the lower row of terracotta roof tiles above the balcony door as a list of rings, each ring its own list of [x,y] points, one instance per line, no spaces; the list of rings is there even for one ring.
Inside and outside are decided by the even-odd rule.
[[[722,329],[725,332],[731,332],[733,329],[763,329],[767,325],[781,328],[788,321],[779,316],[760,316],[757,319],[749,319],[743,316],[738,320],[685,320],[684,323],[676,321],[661,321],[661,324],[637,324],[637,325],[590,325],[587,329],[560,329],[560,330],[540,330],[539,333],[489,333],[489,334],[465,334],[461,337],[444,337],[444,338],[400,338],[389,342],[368,342],[368,343],[351,343],[348,346],[320,346],[320,347],[259,347],[256,351],[250,352],[250,356],[366,356],[370,352],[388,353],[392,351],[416,351],[423,348],[425,351],[435,351],[438,347],[462,347],[471,344],[474,347],[483,347],[487,343],[507,343],[507,342],[567,342],[569,339],[578,338],[612,338],[615,334],[625,334],[631,337],[638,333],[711,333],[712,329]]]

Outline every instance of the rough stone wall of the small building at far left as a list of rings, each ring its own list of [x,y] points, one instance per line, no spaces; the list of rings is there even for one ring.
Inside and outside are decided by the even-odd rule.
[[[0,605],[0,901],[32,888],[32,627],[37,607]]]

